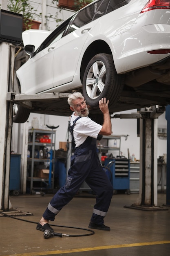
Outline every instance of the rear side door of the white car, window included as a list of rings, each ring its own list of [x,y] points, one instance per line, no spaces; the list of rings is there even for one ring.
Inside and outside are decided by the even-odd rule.
[[[97,20],[92,19],[101,3],[102,0],[95,2],[75,14],[66,35],[57,41],[53,59],[54,87],[73,80],[83,45],[97,23]]]

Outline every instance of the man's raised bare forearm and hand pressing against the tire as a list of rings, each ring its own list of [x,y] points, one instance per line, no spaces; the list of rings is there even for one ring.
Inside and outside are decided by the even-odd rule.
[[[110,135],[112,134],[112,124],[110,119],[110,113],[108,109],[109,100],[106,102],[106,98],[102,98],[99,100],[99,108],[103,113],[104,122],[102,125],[102,129],[100,130],[99,134],[101,135]]]

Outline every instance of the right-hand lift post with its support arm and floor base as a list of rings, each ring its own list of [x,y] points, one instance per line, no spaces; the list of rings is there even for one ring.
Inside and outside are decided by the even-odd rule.
[[[126,208],[167,210],[157,205],[157,119],[165,108],[152,106],[137,113],[114,115],[112,118],[140,119],[140,187],[137,202]]]

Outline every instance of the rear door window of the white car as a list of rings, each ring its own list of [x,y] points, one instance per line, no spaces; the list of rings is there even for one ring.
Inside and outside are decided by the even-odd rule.
[[[90,6],[88,6],[87,8],[80,10],[75,16],[75,19],[73,19],[73,22],[71,23],[71,26],[68,30],[68,33],[71,33],[76,29],[79,29],[80,27],[91,22],[102,1],[103,0],[97,1],[94,4],[91,4]]]

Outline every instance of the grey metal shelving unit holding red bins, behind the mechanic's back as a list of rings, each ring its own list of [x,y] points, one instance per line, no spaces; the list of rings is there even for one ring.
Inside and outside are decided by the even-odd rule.
[[[44,138],[45,137],[45,138]],[[55,131],[52,130],[40,130],[40,129],[30,129],[29,130],[29,139],[28,139],[28,152],[30,155],[27,157],[27,177],[26,180],[29,183],[29,191],[33,193],[33,191],[49,188],[49,174],[40,175],[41,166],[43,167],[45,164],[50,164],[50,154],[46,153],[43,156],[40,156],[38,152],[40,149],[43,151],[46,148],[49,152],[53,150],[53,158],[52,158],[52,171],[54,173],[54,159],[55,159]],[[39,183],[38,183],[39,182]],[[37,186],[40,184],[41,186]],[[51,179],[53,189],[54,184],[54,175]],[[43,187],[43,185],[45,187]]]

